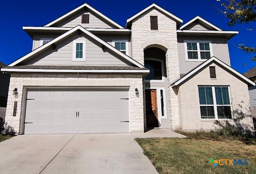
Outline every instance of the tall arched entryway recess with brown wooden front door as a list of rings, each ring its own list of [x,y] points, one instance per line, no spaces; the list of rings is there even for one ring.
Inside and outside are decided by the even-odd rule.
[[[147,129],[161,127],[163,118],[167,118],[167,72],[166,50],[159,47],[144,49],[144,66],[150,69],[145,77],[145,104]]]

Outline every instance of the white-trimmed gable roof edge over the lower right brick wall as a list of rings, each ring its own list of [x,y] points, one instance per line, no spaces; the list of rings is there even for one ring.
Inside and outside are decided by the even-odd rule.
[[[192,69],[191,71],[189,71],[188,73],[186,73],[186,75],[184,75],[182,78],[179,78],[177,80],[174,80],[174,82],[172,82],[171,87],[177,86],[177,85],[181,85],[183,82],[185,82],[186,80],[189,80],[190,78],[193,77],[193,75],[195,75],[196,73],[198,73],[199,71],[201,71],[205,66],[208,66],[210,63],[217,63],[218,65],[222,66],[223,68],[225,68],[227,71],[231,72],[233,75],[236,75],[237,77],[239,77],[240,79],[242,79],[244,82],[246,82],[249,85],[253,85],[255,86],[255,83],[252,82],[251,80],[249,80],[248,78],[246,78],[244,75],[242,75],[241,73],[239,73],[238,71],[234,70],[233,68],[231,68],[230,66],[228,66],[226,63],[224,63],[223,61],[220,61],[220,59],[217,59],[216,57],[211,57],[210,59],[208,59],[207,61],[205,61],[204,63],[200,64],[199,66],[197,66],[196,68]]]

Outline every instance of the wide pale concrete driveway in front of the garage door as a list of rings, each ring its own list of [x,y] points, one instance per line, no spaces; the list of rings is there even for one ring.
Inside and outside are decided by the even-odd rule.
[[[19,135],[0,142],[5,174],[154,174],[132,134]]]

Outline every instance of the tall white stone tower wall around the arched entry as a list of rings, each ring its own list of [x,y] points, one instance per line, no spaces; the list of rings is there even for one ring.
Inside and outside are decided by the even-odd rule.
[[[150,29],[150,16],[157,16],[158,30]],[[170,82],[179,77],[179,57],[176,33],[176,21],[168,18],[159,11],[152,9],[140,18],[133,21],[131,33],[132,57],[142,65],[144,64],[144,49],[148,46],[159,47],[166,51],[167,98],[169,99],[169,109],[171,129],[179,128],[179,109],[176,89],[170,87]],[[145,94],[145,90],[144,90]],[[146,120],[146,117],[145,117]],[[145,122],[146,123],[146,122]]]

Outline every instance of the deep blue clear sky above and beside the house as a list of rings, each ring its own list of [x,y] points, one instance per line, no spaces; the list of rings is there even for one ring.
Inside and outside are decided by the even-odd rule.
[[[240,73],[256,66],[250,61],[251,55],[242,52],[234,43],[256,45],[256,23],[229,27],[225,18],[215,7],[221,8],[216,0],[2,0],[0,2],[0,61],[9,64],[31,52],[32,39],[22,30],[22,26],[44,26],[63,14],[88,3],[118,24],[125,26],[126,19],[145,7],[156,3],[172,14],[189,21],[195,16],[215,24],[222,30],[239,31],[239,34],[228,41],[231,66]],[[253,31],[247,28],[254,28]],[[245,64],[246,66],[243,66]]]

